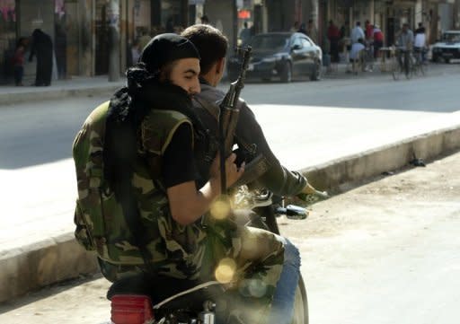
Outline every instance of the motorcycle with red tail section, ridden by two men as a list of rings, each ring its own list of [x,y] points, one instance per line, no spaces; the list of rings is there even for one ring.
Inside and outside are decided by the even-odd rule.
[[[316,192],[317,197],[327,197]],[[314,195],[309,195],[312,197]],[[313,200],[317,200],[314,199]],[[306,200],[307,201],[307,200]],[[302,220],[308,215],[302,206],[284,206],[283,197],[274,197],[270,191],[249,192],[243,186],[235,195],[238,206],[250,209],[251,217],[244,220],[246,226],[261,228],[279,234],[277,218],[286,215],[289,219]],[[310,203],[313,202],[310,198]],[[139,275],[121,279],[111,285],[107,297],[111,300],[111,322],[114,324],[214,324],[218,323],[219,302],[224,288],[217,281],[206,283],[189,282],[166,276],[149,277]],[[153,283],[146,287],[146,282]],[[130,285],[140,285],[155,295],[118,294]],[[224,302],[228,302],[224,301]],[[243,323],[238,319],[232,323]],[[300,275],[296,287],[292,324],[308,324],[308,301],[305,282]]]

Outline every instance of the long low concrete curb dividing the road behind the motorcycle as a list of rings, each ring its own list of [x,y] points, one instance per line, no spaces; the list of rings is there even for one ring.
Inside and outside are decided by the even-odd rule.
[[[384,171],[397,170],[408,165],[414,154],[417,158],[430,160],[441,153],[459,149],[458,138],[460,123],[301,171],[318,188],[338,188]],[[44,285],[98,271],[94,254],[78,245],[73,232],[9,251],[1,256],[0,268],[0,302]]]

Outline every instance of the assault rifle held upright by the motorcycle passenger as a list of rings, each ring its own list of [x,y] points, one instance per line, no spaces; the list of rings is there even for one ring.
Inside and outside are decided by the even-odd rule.
[[[240,52],[241,49],[238,48],[237,51]],[[251,47],[243,50],[243,63],[238,79],[230,83],[230,88],[226,92],[224,100],[219,104],[220,185],[223,195],[226,194],[226,158],[232,153],[234,145],[234,130],[240,113],[237,103],[244,87],[244,79],[246,78],[246,71],[251,59],[251,52]]]

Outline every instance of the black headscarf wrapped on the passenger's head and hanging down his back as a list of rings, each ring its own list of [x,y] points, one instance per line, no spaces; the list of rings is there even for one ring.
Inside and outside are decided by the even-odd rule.
[[[199,58],[189,39],[176,34],[156,36],[144,48],[140,62],[128,68],[128,86],[111,98],[103,149],[104,175],[119,197],[131,197],[130,180],[137,160],[137,129],[151,109],[174,109],[190,118],[195,136],[207,140],[207,132],[194,113],[188,92],[160,80],[165,65],[181,58]],[[129,191],[129,192],[128,192]]]

